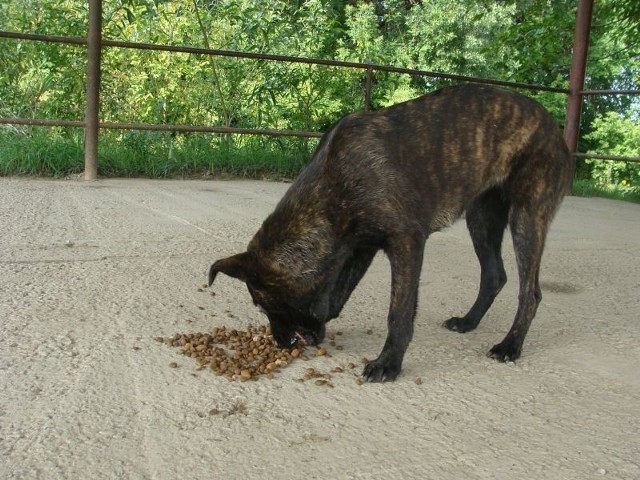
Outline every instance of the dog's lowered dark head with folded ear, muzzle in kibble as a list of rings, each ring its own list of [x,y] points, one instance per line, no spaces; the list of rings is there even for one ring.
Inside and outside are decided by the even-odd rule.
[[[318,308],[312,293],[288,285],[286,280],[290,279],[264,265],[256,252],[215,262],[209,269],[209,286],[219,272],[246,283],[253,303],[269,318],[273,338],[281,348],[289,348],[298,341],[318,345],[324,339],[326,308]]]

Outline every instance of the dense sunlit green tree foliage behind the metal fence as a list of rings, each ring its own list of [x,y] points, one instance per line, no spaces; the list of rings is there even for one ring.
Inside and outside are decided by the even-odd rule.
[[[104,2],[103,36],[566,87],[576,4],[575,0],[113,0]],[[638,88],[639,5],[637,0],[595,2],[587,88]],[[87,30],[87,2],[4,0],[0,29],[82,37]],[[82,118],[85,68],[82,47],[1,39],[0,116]],[[322,131],[342,114],[364,108],[362,70],[118,48],[103,48],[102,68],[105,121]],[[448,83],[378,72],[372,107]],[[531,95],[552,111],[559,124],[564,123],[563,95]],[[631,96],[589,98],[580,148],[633,154],[639,135],[637,105],[638,98]],[[132,134],[118,135],[124,141]],[[181,137],[166,136],[172,142]],[[219,137],[210,139],[213,146],[220,142]],[[598,168],[585,164],[584,172],[598,174]]]

